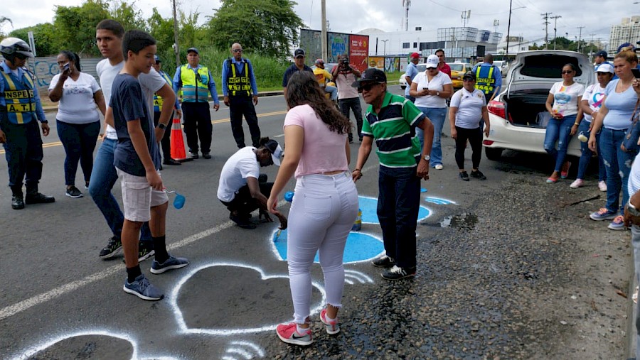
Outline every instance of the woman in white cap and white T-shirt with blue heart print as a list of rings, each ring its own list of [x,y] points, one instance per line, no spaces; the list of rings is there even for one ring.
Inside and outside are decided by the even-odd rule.
[[[614,76],[613,66],[606,62],[600,64],[596,69],[597,84],[591,84],[582,94],[582,101],[580,101],[580,109],[582,114],[585,114],[585,119],[580,121],[580,125],[577,126],[577,131],[580,133],[580,162],[578,163],[577,178],[569,185],[576,189],[585,185],[585,173],[587,172],[587,166],[589,166],[589,160],[594,155],[593,151],[589,149],[587,140],[591,136],[591,119],[597,114],[599,109],[604,104],[604,89],[612,80]],[[576,121],[577,122],[577,121]],[[575,124],[574,124],[575,126]],[[584,136],[584,137],[583,137]],[[596,134],[596,143],[599,143],[599,133]],[[600,153],[599,146],[597,146],[598,157],[598,188],[600,191],[607,191],[607,169],[604,168],[604,162],[602,161],[602,153]]]

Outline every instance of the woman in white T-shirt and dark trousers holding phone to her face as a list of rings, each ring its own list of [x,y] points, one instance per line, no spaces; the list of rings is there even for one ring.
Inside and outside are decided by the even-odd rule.
[[[55,124],[65,153],[65,185],[68,197],[82,197],[75,187],[78,161],[85,175],[85,189],[89,188],[93,168],[93,149],[100,133],[100,112],[105,115],[105,97],[91,75],[80,72],[80,58],[70,51],[58,55],[60,74],[49,84],[49,99],[59,102]],[[97,108],[96,109],[96,105]]]

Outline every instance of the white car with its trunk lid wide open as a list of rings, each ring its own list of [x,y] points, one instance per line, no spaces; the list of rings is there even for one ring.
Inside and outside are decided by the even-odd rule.
[[[489,102],[491,130],[484,139],[489,160],[499,160],[504,149],[546,153],[545,120],[550,118],[545,102],[554,82],[562,81],[562,67],[577,67],[575,82],[594,83],[593,65],[586,55],[565,50],[533,50],[516,55],[501,93]],[[580,140],[573,136],[568,155],[580,156]]]

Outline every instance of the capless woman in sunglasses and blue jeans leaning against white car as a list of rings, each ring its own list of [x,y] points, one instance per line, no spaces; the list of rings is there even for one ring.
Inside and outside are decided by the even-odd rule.
[[[571,163],[565,163],[567,147],[571,136],[577,130],[577,125],[580,124],[580,118],[582,118],[582,111],[578,111],[578,104],[580,104],[582,94],[585,92],[585,87],[573,81],[575,73],[575,65],[563,66],[562,81],[553,84],[545,103],[547,111],[551,113],[551,119],[545,132],[545,151],[555,159],[553,173],[547,179],[550,184],[558,182],[560,177],[567,178],[571,165]],[[572,127],[574,124],[575,128]],[[556,141],[558,141],[557,150],[555,148]]]

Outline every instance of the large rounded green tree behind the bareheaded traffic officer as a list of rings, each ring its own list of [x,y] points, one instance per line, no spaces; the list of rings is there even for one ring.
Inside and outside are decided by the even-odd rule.
[[[221,0],[208,21],[209,36],[218,48],[241,43],[242,48],[284,59],[304,26],[291,0]]]

